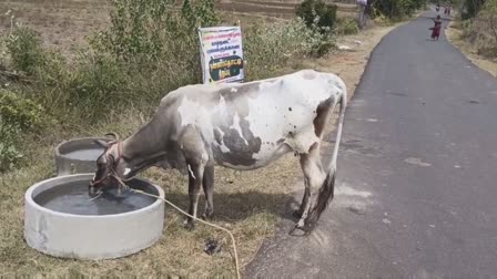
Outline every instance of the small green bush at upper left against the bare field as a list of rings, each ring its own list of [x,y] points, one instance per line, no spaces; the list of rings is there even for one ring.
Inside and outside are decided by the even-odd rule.
[[[12,29],[7,37],[7,49],[16,69],[29,74],[44,61],[40,38],[26,27]]]

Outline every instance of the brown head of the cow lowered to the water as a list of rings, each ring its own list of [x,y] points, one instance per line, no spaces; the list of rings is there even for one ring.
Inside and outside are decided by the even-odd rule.
[[[104,152],[97,159],[97,172],[88,188],[90,196],[99,195],[109,186],[119,186],[116,177],[119,179],[126,179],[130,175],[119,137],[114,133],[108,135],[112,135],[114,141],[109,143],[102,140],[94,141],[95,144],[104,148]]]

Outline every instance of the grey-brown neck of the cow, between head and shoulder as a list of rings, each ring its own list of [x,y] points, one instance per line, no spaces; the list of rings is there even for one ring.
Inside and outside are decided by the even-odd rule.
[[[131,169],[144,169],[160,161],[169,143],[168,123],[153,117],[135,134],[124,140],[122,155]]]

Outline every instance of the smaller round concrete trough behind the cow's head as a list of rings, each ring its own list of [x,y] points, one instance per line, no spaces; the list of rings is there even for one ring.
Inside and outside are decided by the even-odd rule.
[[[103,148],[93,141],[106,137],[82,137],[64,141],[54,149],[57,175],[85,174],[97,169],[97,158],[102,155]]]

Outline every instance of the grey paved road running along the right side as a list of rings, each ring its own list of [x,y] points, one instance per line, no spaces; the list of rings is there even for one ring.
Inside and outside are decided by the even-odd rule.
[[[308,238],[285,220],[248,277],[497,277],[497,80],[445,38],[426,41],[430,25],[377,45],[331,208]]]

